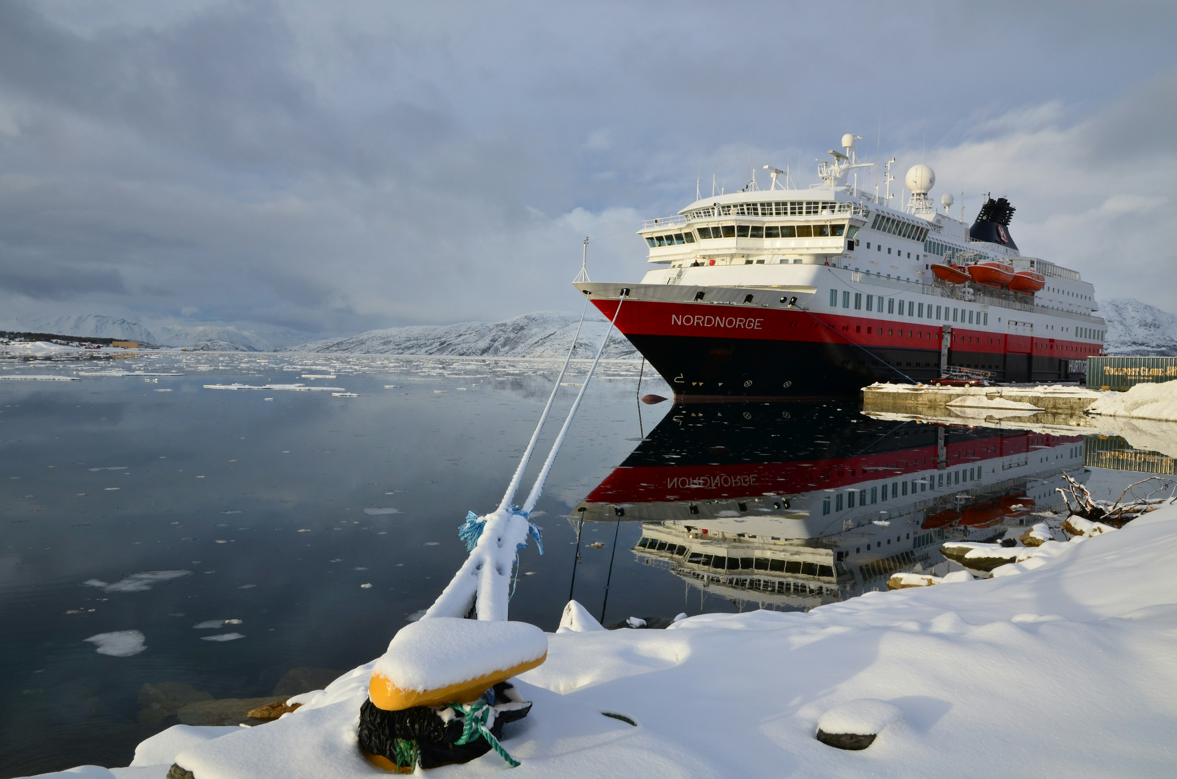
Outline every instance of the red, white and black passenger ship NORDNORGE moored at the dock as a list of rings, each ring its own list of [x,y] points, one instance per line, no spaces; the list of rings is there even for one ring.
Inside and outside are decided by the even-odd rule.
[[[1092,285],[1022,254],[1009,201],[986,197],[969,225],[951,194],[933,204],[936,175],[916,165],[896,202],[891,162],[887,192],[867,193],[857,169],[873,164],[855,142],[830,152],[819,185],[770,168],[769,189],[753,180],[646,221],[640,284],[576,286],[611,319],[624,297],[618,329],[680,398],[849,394],[953,367],[1065,381],[1102,354]]]

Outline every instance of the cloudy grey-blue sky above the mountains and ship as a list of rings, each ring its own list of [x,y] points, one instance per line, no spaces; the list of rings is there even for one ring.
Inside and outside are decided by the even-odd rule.
[[[1177,4],[0,4],[0,311],[315,338],[578,307],[845,132],[1177,308]],[[763,174],[763,171],[760,171]],[[766,185],[762,175],[762,185]]]

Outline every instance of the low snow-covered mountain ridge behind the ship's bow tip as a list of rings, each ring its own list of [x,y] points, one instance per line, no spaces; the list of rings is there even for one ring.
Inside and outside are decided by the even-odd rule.
[[[554,311],[539,311],[500,322],[461,322],[458,325],[390,327],[373,329],[341,340],[317,341],[294,346],[291,352],[332,354],[437,354],[452,357],[564,357],[572,345],[579,317]],[[576,357],[592,357],[600,345],[609,322],[590,309]],[[633,359],[637,349],[614,332],[603,357]]]

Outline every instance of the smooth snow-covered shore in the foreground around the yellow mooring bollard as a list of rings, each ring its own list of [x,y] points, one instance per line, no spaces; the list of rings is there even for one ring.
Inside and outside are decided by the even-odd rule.
[[[505,733],[523,761],[512,775],[1171,775],[1175,520],[1166,506],[988,580],[548,635],[547,661],[519,677],[536,705]],[[355,746],[370,673],[271,724],[177,726],[132,768],[61,775],[162,779],[173,760],[197,779],[386,775]],[[814,739],[825,712],[858,699],[902,718],[860,752]],[[506,770],[490,753],[431,775]]]

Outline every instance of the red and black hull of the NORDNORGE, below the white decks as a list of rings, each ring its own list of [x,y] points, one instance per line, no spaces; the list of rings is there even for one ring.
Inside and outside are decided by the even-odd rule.
[[[618,300],[594,297],[593,304],[612,319]],[[940,326],[855,313],[626,299],[617,328],[679,397],[853,395],[872,381],[940,375]],[[953,326],[951,339],[950,366],[996,371],[1013,381],[1066,380],[1073,378],[1068,360],[1098,354],[1093,344],[966,325]]]

